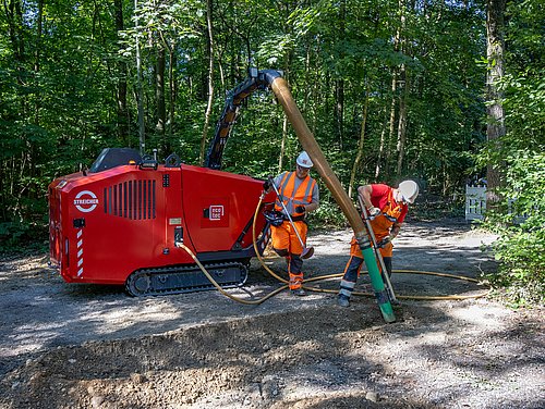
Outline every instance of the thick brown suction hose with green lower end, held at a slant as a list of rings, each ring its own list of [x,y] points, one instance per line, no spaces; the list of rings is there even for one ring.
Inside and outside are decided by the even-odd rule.
[[[334,171],[329,166],[329,163],[324,157],[324,153],[316,142],[314,135],[311,133],[311,129],[308,129],[308,126],[301,115],[301,112],[295,106],[291,91],[288,87],[288,83],[278,75],[271,80],[270,88],[282,104],[283,111],[286,112],[288,120],[291,122],[293,128],[295,129],[295,134],[298,135],[303,149],[306,150],[306,152],[313,160],[314,166],[318,171],[327,188],[331,191],[335,200],[341,208],[350,225],[352,226],[352,230],[354,231],[355,239],[358,240],[358,244],[360,245],[360,248],[362,250],[363,260],[365,261],[365,265],[367,267],[367,271],[371,277],[371,284],[373,286],[373,290],[375,292],[375,297],[380,308],[380,312],[383,313],[384,320],[386,322],[395,322],[396,317],[393,315],[393,310],[386,293],[380,272],[376,263],[375,255],[367,237],[365,225],[363,224],[358,210],[352,203],[352,200],[350,200],[348,194],[342,188]]]

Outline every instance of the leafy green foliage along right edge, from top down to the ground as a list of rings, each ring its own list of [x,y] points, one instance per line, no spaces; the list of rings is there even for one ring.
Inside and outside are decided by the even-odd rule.
[[[506,27],[506,73],[498,85],[507,134],[483,148],[481,166],[502,172],[502,201],[485,225],[498,233],[493,250],[500,262],[491,282],[513,306],[543,303],[545,263],[545,59],[544,3],[510,2]]]

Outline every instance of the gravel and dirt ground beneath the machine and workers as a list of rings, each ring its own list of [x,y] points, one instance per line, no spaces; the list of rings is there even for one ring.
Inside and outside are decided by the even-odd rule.
[[[305,276],[340,273],[350,231],[315,233]],[[409,221],[395,269],[477,277],[494,239],[460,220]],[[543,408],[542,309],[486,298],[402,299],[287,292],[258,306],[218,292],[131,298],[70,285],[47,256],[0,261],[0,408]],[[267,258],[280,272],[283,260]],[[340,278],[317,282],[338,289]],[[474,283],[395,273],[398,295],[477,295]],[[253,262],[240,297],[279,284]],[[370,290],[368,278],[358,289]]]

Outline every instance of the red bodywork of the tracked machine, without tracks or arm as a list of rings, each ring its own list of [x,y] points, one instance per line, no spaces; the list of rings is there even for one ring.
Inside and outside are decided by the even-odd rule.
[[[124,284],[140,269],[194,263],[175,247],[177,231],[199,260],[249,258],[244,228],[261,189],[249,176],[183,164],[60,177],[49,186],[51,261],[70,283]]]

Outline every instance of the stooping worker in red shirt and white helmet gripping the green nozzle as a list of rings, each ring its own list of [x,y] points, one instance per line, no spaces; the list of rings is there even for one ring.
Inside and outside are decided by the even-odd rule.
[[[403,181],[397,188],[384,184],[365,185],[358,188],[358,194],[368,209],[367,213],[377,247],[383,256],[387,273],[391,275],[393,250],[391,240],[399,234],[409,210],[408,203],[413,203],[419,196],[419,185],[414,181]],[[353,237],[350,243],[350,260],[344,268],[344,275],[340,283],[339,306],[348,307],[350,305],[350,296],[360,276],[362,263],[362,250]]]

